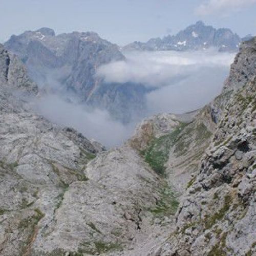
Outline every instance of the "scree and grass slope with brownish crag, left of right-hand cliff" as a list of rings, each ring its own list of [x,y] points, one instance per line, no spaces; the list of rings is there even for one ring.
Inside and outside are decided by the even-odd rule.
[[[209,106],[182,115],[159,114],[143,120],[129,143],[182,195],[197,174],[215,126]]]

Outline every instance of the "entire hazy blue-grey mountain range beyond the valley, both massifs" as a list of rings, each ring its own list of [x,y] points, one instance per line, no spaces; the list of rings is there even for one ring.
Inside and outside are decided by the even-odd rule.
[[[105,82],[97,75],[100,66],[126,61],[123,50],[187,51],[217,47],[220,51],[238,51],[241,41],[229,29],[216,30],[198,22],[176,36],[134,42],[121,50],[94,32],[55,35],[49,28],[12,35],[4,46],[25,63],[41,91],[44,88],[46,93],[62,95],[68,102],[106,110],[113,119],[129,123],[145,117],[146,94],[154,87],[130,81]]]

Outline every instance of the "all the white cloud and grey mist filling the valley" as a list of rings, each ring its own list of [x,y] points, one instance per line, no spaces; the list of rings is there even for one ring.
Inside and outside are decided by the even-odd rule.
[[[96,76],[106,83],[136,82],[148,88],[147,116],[161,112],[184,113],[201,108],[216,97],[228,75],[234,53],[214,49],[197,52],[129,52],[126,60],[100,66]],[[92,109],[79,100],[67,100],[61,84],[51,75],[48,92],[34,102],[36,111],[60,125],[74,127],[106,147],[131,137],[136,123],[123,124],[106,110]],[[61,91],[61,93],[60,93]],[[74,99],[74,98],[73,98]]]

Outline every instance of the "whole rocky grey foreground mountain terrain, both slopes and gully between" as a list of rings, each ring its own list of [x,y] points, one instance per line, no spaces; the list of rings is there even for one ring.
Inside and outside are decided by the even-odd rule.
[[[37,116],[0,46],[1,255],[254,255],[256,37],[204,108],[146,118],[104,151]]]

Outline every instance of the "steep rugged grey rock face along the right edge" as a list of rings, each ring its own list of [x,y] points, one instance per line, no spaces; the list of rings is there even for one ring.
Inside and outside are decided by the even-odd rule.
[[[256,38],[245,42],[232,65],[223,93],[216,100],[225,96],[228,86],[232,91],[220,104],[216,131],[199,173],[189,182],[172,233],[151,255],[256,253],[255,46]],[[242,84],[244,69],[251,74]]]

